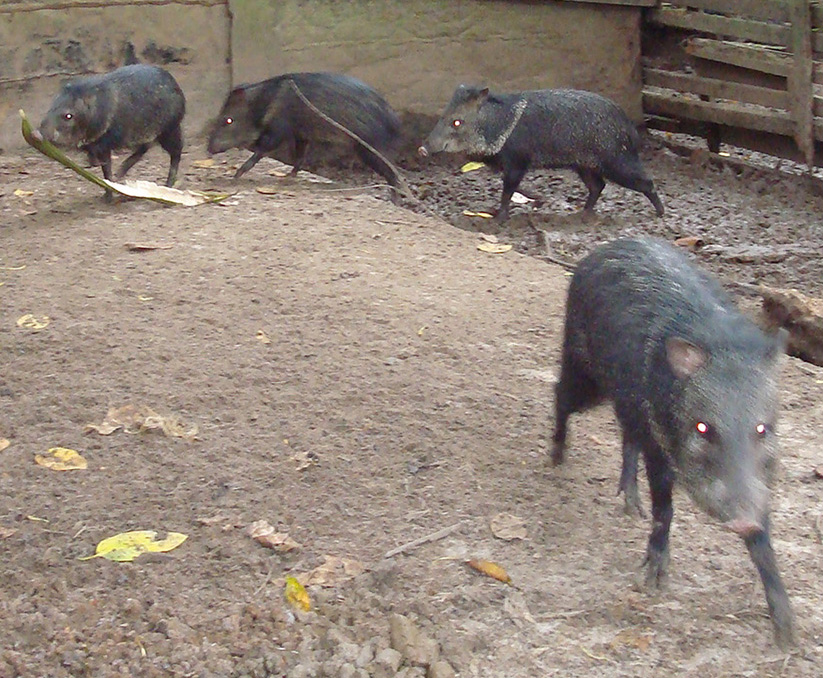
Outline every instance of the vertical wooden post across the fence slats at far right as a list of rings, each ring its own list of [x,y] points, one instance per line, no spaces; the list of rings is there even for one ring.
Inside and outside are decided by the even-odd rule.
[[[787,90],[795,122],[794,140],[811,171],[814,167],[814,99],[812,92],[812,13],[808,0],[792,3],[792,54],[794,67]]]

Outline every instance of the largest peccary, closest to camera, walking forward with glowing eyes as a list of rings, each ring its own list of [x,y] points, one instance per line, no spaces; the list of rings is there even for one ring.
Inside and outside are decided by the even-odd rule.
[[[647,585],[666,574],[676,475],[743,538],[785,646],[792,611],[769,539],[784,347],[785,332],[764,334],[673,246],[604,245],[579,263],[569,287],[552,460],[563,462],[569,415],[612,400],[623,432],[621,484],[642,453],[651,490]]]

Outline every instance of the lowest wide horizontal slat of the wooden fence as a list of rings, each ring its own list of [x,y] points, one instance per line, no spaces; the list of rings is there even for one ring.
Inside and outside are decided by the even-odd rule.
[[[792,136],[795,128],[791,116],[784,111],[768,108],[754,110],[742,104],[687,99],[645,89],[643,90],[643,110],[647,113],[745,127],[788,137]]]

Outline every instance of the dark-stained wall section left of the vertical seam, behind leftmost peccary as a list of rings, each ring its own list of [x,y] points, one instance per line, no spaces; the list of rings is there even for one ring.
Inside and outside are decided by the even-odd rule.
[[[22,108],[33,124],[63,80],[140,61],[167,68],[186,94],[192,137],[231,82],[225,0],[28,0],[0,4],[0,148],[22,148]]]

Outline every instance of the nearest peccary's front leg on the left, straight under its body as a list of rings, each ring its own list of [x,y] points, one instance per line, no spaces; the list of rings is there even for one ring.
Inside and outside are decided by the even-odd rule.
[[[652,495],[652,532],[646,549],[646,586],[661,586],[669,567],[669,528],[672,524],[674,474],[662,450],[654,443],[644,446],[646,475]]]

